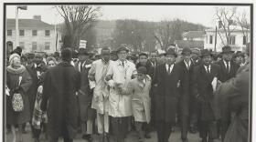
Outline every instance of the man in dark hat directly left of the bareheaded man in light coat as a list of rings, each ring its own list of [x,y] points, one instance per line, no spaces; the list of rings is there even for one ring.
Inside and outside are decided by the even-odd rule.
[[[80,90],[78,91],[80,106],[80,127],[82,138],[91,141],[93,121],[96,117],[95,109],[91,108],[93,90],[89,82],[89,70],[91,69],[90,56],[85,48],[79,49],[79,62],[75,68],[80,72]]]

